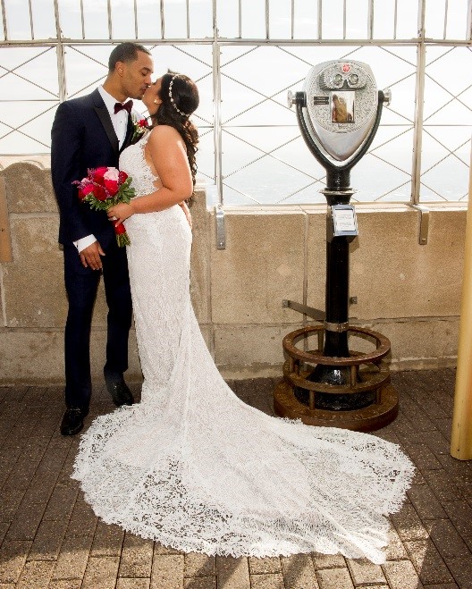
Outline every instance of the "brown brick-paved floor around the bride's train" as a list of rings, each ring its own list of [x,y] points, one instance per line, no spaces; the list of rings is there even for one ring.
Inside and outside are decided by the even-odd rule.
[[[0,388],[0,589],[472,588],[472,462],[449,453],[454,377],[449,369],[392,374],[400,416],[375,434],[400,443],[417,475],[391,518],[383,566],[316,552],[209,558],[107,526],[70,479],[79,439],[58,432],[63,390]],[[274,382],[230,384],[272,413]],[[113,408],[104,389],[94,391],[87,424]]]

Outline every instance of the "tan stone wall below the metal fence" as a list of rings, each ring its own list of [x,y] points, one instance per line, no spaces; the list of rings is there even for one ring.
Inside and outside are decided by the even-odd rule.
[[[50,172],[46,161],[2,164],[13,261],[0,264],[0,383],[62,383],[67,304]],[[432,206],[424,246],[417,210],[356,208],[354,323],[391,339],[392,369],[454,366],[466,207]],[[215,248],[215,219],[203,192],[192,215],[192,300],[217,365],[232,378],[281,374],[282,337],[302,325],[282,299],[325,305],[325,206],[225,208],[224,250]],[[105,312],[101,289],[91,344],[97,379]],[[134,333],[129,375],[140,378]]]

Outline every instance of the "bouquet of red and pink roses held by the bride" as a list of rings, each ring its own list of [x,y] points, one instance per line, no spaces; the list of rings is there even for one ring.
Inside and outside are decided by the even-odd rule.
[[[116,168],[101,167],[89,169],[87,178],[73,181],[79,188],[79,198],[87,201],[96,211],[107,211],[119,203],[130,203],[134,189],[130,187],[131,177]],[[122,248],[129,246],[131,241],[122,223],[114,222],[116,242]]]

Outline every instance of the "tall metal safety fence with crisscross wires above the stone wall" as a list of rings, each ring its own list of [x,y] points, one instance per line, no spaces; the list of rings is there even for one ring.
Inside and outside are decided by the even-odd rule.
[[[364,202],[467,198],[472,0],[0,0],[0,156],[47,154],[55,108],[97,87],[113,44],[198,83],[198,170],[214,202],[324,202],[289,89],[333,59],[392,89],[353,172]],[[144,109],[144,107],[143,107]]]

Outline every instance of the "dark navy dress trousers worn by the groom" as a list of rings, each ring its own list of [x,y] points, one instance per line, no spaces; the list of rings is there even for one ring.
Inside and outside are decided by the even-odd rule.
[[[63,248],[65,290],[69,299],[64,337],[67,407],[89,407],[92,389],[90,329],[102,274],[108,306],[105,370],[119,376],[128,368],[132,307],[126,248],[118,248],[113,240],[104,251],[103,271],[99,272],[83,267],[75,246]]]

